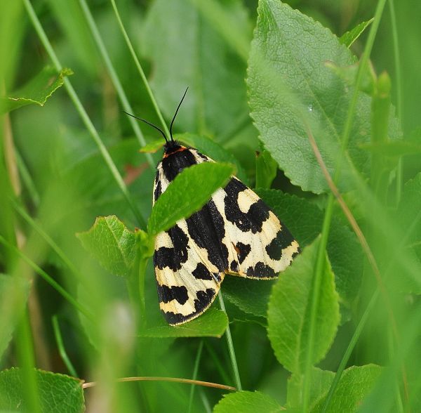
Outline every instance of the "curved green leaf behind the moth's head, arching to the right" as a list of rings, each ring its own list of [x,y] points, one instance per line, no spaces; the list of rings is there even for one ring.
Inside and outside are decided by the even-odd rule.
[[[215,162],[227,162],[228,164],[233,164],[236,167],[236,176],[243,181],[244,184],[248,185],[248,178],[246,171],[244,171],[243,166],[231,152],[222,147],[219,143],[215,142],[206,136],[195,135],[194,133],[182,133],[177,135],[177,140],[180,140],[186,145],[195,147],[199,152],[203,153],[210,159],[213,159]]]

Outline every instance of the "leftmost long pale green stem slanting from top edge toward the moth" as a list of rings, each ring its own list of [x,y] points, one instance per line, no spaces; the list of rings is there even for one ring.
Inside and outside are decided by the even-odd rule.
[[[32,21],[32,24],[34,25],[34,29],[36,33],[38,34],[39,39],[41,40],[41,43],[44,45],[44,48],[46,49],[48,56],[51,58],[53,65],[55,66],[55,69],[58,71],[62,70],[62,65],[60,61],[58,60],[57,55],[55,55],[53,47],[51,46],[51,43],[48,40],[48,37],[46,35],[46,32],[44,32],[44,28],[41,26],[41,23],[39,22],[39,19],[36,16],[36,13],[34,11],[34,8],[32,7],[32,4],[30,3],[29,0],[23,0],[23,3],[25,4],[25,8],[27,9],[27,13],[29,15],[30,20]],[[145,220],[140,214],[140,211],[138,210],[137,206],[135,206],[135,203],[133,202],[133,199],[131,198],[131,195],[128,192],[126,184],[124,183],[123,178],[121,177],[119,173],[119,170],[114,164],[114,161],[112,160],[111,155],[109,155],[107,147],[105,147],[104,143],[102,142],[100,135],[98,134],[98,131],[95,129],[95,126],[93,126],[91,119],[88,117],[86,110],[81,104],[81,101],[79,100],[79,97],[77,96],[76,91],[74,91],[73,86],[70,83],[69,79],[67,79],[67,77],[65,77],[64,79],[64,85],[65,85],[65,89],[67,90],[67,93],[69,93],[70,99],[72,99],[72,102],[74,106],[76,107],[77,112],[79,112],[79,115],[83,121],[83,124],[85,124],[86,129],[88,129],[88,132],[90,133],[91,137],[95,141],[95,144],[98,146],[98,150],[100,150],[100,154],[102,155],[102,158],[105,160],[105,164],[107,164],[109,171],[112,173],[112,176],[114,177],[114,180],[116,181],[121,192],[123,193],[123,196],[126,198],[126,202],[131,207],[131,210],[133,211],[133,214],[135,218],[137,219],[138,224],[140,225],[140,227],[146,228]]]

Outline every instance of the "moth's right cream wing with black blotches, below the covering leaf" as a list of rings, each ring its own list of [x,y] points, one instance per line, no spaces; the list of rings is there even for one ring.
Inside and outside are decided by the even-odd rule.
[[[270,279],[284,270],[300,247],[265,202],[235,176],[213,195],[225,222],[226,273]]]

